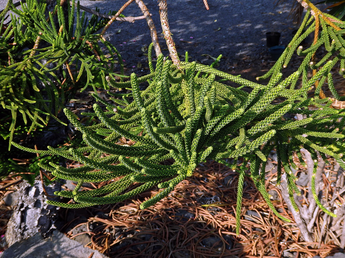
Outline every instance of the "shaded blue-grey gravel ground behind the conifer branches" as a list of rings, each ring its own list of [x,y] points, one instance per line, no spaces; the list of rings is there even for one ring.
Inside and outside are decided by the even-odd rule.
[[[118,10],[125,1],[120,0],[81,0],[82,6],[90,9],[100,8],[100,12]],[[161,34],[157,0],[144,1],[157,28],[163,53],[168,55],[164,38]],[[257,0],[248,5],[248,1],[209,0],[210,10],[206,10],[202,0],[168,0],[168,17],[172,37],[177,51],[184,56],[189,52],[190,60],[210,64],[210,56],[223,55],[221,69],[226,72],[236,70],[240,60],[247,60],[245,66],[252,68],[267,60],[265,33],[278,31],[282,33],[281,44],[286,45],[296,28],[289,16],[293,1],[276,6],[274,0]],[[6,6],[7,0],[0,0],[0,8]],[[138,6],[133,2],[123,12],[126,16],[141,16]],[[117,33],[120,30],[120,33]],[[125,67],[140,73],[138,62],[146,62],[144,52],[151,42],[149,29],[145,20],[135,23],[118,22],[111,25],[106,38],[122,54]],[[205,55],[207,54],[207,55]],[[210,56],[208,56],[210,55]],[[181,60],[184,60],[181,57]],[[241,63],[241,62],[240,62]],[[133,67],[135,66],[135,67]],[[242,69],[245,69],[241,65]]]

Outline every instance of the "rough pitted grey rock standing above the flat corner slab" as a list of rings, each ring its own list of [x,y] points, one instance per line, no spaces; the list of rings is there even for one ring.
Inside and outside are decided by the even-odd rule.
[[[49,236],[56,229],[57,210],[59,207],[48,205],[47,196],[43,193],[41,181],[36,180],[31,186],[23,181],[15,186],[16,192],[5,198],[6,205],[13,207],[13,213],[7,224],[6,244],[12,244],[40,232],[41,236]],[[53,196],[61,190],[61,184],[56,182],[46,186],[46,191]],[[53,200],[59,201],[59,197]]]

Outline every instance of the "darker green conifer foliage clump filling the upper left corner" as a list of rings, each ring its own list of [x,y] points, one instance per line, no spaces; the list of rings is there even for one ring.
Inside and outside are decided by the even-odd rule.
[[[57,114],[65,92],[107,86],[105,75],[113,74],[116,55],[123,72],[115,47],[95,34],[104,19],[93,16],[87,24],[85,12],[80,15],[79,1],[76,10],[75,1],[72,7],[67,4],[67,13],[60,4],[52,12],[46,7],[45,1],[27,0],[16,9],[9,0],[0,15],[0,103],[12,112],[10,143],[18,116],[25,123],[31,120],[28,133],[47,125],[50,117],[61,122]],[[10,22],[4,24],[8,11],[17,17],[10,13]],[[81,84],[78,81],[84,76],[86,81]]]

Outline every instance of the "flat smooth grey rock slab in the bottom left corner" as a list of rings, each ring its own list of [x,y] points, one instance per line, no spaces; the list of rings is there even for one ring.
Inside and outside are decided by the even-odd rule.
[[[0,258],[107,258],[96,250],[83,247],[55,230],[44,239],[39,233],[28,239],[14,243],[0,254]]]

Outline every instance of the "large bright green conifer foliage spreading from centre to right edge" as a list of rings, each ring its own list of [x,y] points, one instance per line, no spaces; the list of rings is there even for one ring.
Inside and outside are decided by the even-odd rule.
[[[337,28],[345,28],[340,20],[332,19]],[[308,96],[317,81],[316,92],[319,89],[319,93],[319,87],[322,87],[326,78],[328,82],[332,81],[331,69],[338,61],[340,73],[343,73],[345,41],[342,33],[345,30],[337,30],[321,21],[323,30],[316,44],[303,50],[298,45],[315,30],[312,20],[308,12],[283,55],[261,77],[270,78],[266,85],[221,72],[213,68],[214,64],[207,66],[187,60],[176,67],[163,55],[158,56],[155,69],[150,65],[151,73],[148,75],[138,78],[133,73],[127,82],[115,82],[107,77],[110,86],[126,88],[131,93],[113,94],[115,104],[94,95],[108,110],[103,111],[97,104],[93,106],[94,113],[89,115],[97,116],[99,124],[84,126],[71,111],[64,109],[70,122],[82,133],[88,147],[68,151],[53,148],[39,151],[41,154],[58,154],[83,164],[79,168],[66,169],[53,163],[40,163],[42,168],[58,178],[78,182],[73,191],[55,193],[73,198],[75,203],[49,203],[70,208],[116,203],[158,186],[162,190],[140,205],[145,209],[166,197],[178,183],[191,176],[200,162],[212,159],[239,170],[237,233],[245,175],[252,178],[274,214],[289,222],[276,211],[266,191],[263,171],[270,152],[277,151],[277,184],[280,184],[281,174],[285,171],[290,200],[296,210],[293,194],[300,193],[290,168],[298,165],[294,163],[293,153],[302,160],[300,150],[305,148],[313,157],[317,157],[317,154],[322,158],[334,157],[345,168],[342,154],[345,148],[345,110],[332,108],[332,101],[328,98]],[[321,45],[332,54],[327,54],[322,62],[311,63],[313,54]],[[282,68],[288,65],[296,49],[298,54],[306,57],[295,73],[282,79]],[[151,51],[152,44],[149,53]],[[331,60],[327,61],[328,58]],[[319,69],[310,78],[308,68]],[[229,85],[223,83],[225,80]],[[139,87],[142,82],[149,85],[144,90]],[[248,93],[244,87],[250,88],[251,92]],[[295,120],[297,115],[303,115],[304,118]],[[130,139],[135,144],[117,144],[120,137]],[[37,152],[12,144],[23,150]],[[171,159],[171,165],[161,164]],[[237,161],[242,163],[239,168]],[[250,173],[246,174],[248,163]],[[317,162],[314,170],[316,168]],[[82,182],[109,180],[114,181],[99,189],[78,191]],[[317,204],[324,212],[334,216],[321,205],[315,193],[315,180],[313,182],[312,191]],[[130,186],[132,190],[126,192]]]

